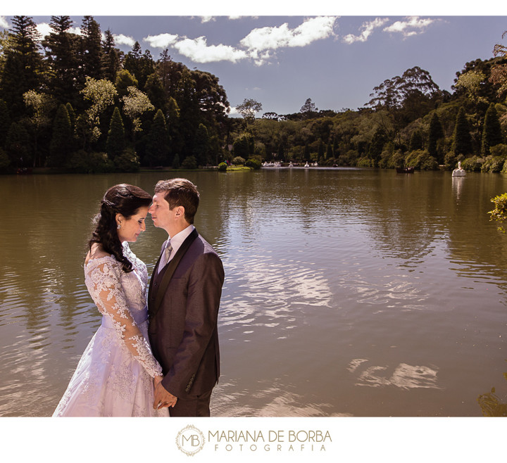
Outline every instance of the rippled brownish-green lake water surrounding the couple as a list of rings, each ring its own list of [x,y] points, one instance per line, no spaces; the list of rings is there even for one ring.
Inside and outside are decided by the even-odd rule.
[[[223,259],[223,417],[481,416],[507,398],[503,175],[187,172]],[[50,416],[100,324],[84,286],[109,186],[162,174],[0,177],[0,415]],[[132,250],[154,267],[151,219]]]

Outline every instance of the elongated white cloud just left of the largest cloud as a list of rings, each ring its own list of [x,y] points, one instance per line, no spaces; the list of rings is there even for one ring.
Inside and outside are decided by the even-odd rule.
[[[209,45],[206,43],[206,37],[197,37],[196,39],[182,39],[173,44],[183,56],[187,56],[195,63],[213,63],[215,61],[236,61],[246,58],[246,51],[235,49],[229,45]]]

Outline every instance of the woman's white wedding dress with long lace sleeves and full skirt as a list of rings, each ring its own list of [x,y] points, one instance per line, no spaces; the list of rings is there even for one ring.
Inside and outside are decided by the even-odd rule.
[[[123,244],[133,271],[113,256],[90,259],[84,282],[102,324],[77,364],[54,417],[168,417],[154,410],[153,378],[162,374],[148,341],[146,265]]]

